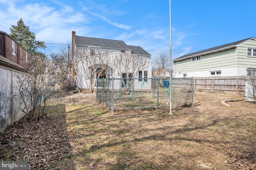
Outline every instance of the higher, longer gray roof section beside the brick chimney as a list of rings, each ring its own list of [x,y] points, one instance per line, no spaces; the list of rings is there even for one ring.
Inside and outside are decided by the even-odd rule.
[[[75,43],[77,45],[90,45],[90,46],[108,47],[108,48],[115,48],[115,49],[129,49],[128,45],[124,43],[124,41],[92,38],[92,37],[82,37],[77,35],[75,36]]]

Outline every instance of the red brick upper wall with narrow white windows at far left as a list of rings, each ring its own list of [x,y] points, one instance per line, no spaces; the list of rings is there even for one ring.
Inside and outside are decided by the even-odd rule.
[[[3,41],[2,41],[3,39]],[[12,53],[12,42],[14,42],[14,54]],[[2,45],[3,43],[3,45]],[[3,50],[2,48],[3,47]],[[0,33],[0,55],[3,57],[6,57],[6,59],[19,64],[20,66],[23,66],[25,68],[29,67],[30,62],[30,54],[21,48],[21,46],[16,43],[16,41],[13,41],[10,36],[8,36],[6,33]],[[20,58],[20,48],[22,57]],[[27,54],[27,61],[26,61],[26,54]]]

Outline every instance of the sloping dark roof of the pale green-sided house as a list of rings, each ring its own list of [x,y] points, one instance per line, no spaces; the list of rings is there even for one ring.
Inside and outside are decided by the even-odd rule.
[[[198,56],[198,55],[203,55],[203,54],[213,53],[213,52],[216,52],[216,51],[222,51],[222,50],[225,50],[225,49],[234,48],[234,47],[237,47],[239,44],[241,44],[245,41],[248,41],[250,39],[256,40],[254,37],[250,37],[250,38],[247,38],[247,39],[242,39],[240,41],[236,41],[236,42],[233,42],[233,43],[228,43],[228,44],[220,45],[220,46],[217,46],[217,47],[212,47],[210,49],[205,49],[205,50],[202,50],[202,51],[198,51],[198,52],[195,52],[195,53],[186,54],[186,55],[183,55],[183,56],[181,56],[177,59],[174,59],[173,61],[180,61],[180,60],[184,60],[184,59],[191,58],[191,57]]]

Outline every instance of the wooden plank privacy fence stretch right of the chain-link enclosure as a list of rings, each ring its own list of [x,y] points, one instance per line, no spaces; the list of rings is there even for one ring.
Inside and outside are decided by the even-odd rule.
[[[195,77],[194,87],[202,90],[224,90],[244,92],[245,77],[244,76],[228,76],[228,77]]]

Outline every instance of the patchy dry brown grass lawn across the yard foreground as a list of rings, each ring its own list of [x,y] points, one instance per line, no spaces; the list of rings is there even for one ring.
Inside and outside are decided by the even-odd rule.
[[[76,95],[64,101],[76,170],[256,168],[256,104],[220,103],[236,94],[196,92],[195,107],[173,115],[168,108],[110,113],[95,96]]]

